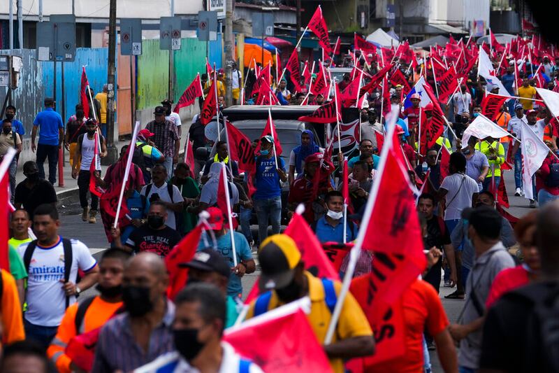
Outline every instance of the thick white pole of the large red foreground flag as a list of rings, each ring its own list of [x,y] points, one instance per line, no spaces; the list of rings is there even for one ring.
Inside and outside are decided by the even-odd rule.
[[[389,151],[392,148],[392,139],[395,130],[395,121],[398,118],[398,113],[389,113],[388,120],[388,134],[384,137],[384,145],[382,146],[382,151],[380,155],[379,168],[377,172],[381,177],[375,178],[372,182],[371,191],[369,198],[367,199],[367,204],[365,205],[365,212],[363,213],[363,220],[361,221],[361,227],[365,229],[359,230],[356,244],[349,252],[349,264],[347,265],[347,270],[344,275],[344,280],[342,282],[342,288],[340,294],[337,296],[337,302],[332,313],[332,318],[330,325],[328,325],[328,331],[326,332],[326,338],[324,339],[324,344],[331,344],[334,332],[336,329],[337,321],[340,318],[340,313],[342,312],[342,307],[344,306],[344,300],[349,291],[349,285],[351,284],[351,279],[354,276],[355,267],[357,265],[357,260],[361,254],[361,247],[363,246],[363,241],[365,240],[365,235],[367,234],[366,227],[369,225],[369,220],[372,215],[372,211],[375,208],[375,203],[377,202],[377,195],[379,194],[380,183],[384,177],[384,167],[386,166],[386,158],[388,158]]]

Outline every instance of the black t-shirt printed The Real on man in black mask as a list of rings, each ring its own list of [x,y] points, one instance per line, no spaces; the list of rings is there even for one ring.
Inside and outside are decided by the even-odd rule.
[[[136,253],[150,251],[159,256],[166,256],[178,244],[180,238],[180,234],[173,228],[165,226],[162,230],[154,230],[145,224],[133,230],[124,244]]]

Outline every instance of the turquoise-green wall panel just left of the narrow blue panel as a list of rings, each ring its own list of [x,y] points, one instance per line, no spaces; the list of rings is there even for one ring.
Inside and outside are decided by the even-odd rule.
[[[182,92],[196,78],[198,71],[205,73],[205,41],[198,38],[183,38],[180,50],[175,50],[174,73],[175,73],[175,98],[177,102]]]

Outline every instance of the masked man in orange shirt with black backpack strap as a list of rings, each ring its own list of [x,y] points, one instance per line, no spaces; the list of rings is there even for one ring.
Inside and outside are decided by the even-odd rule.
[[[76,370],[64,349],[70,339],[103,326],[122,307],[122,274],[130,254],[117,248],[103,252],[99,262],[99,281],[96,289],[100,295],[74,303],[66,309],[55,339],[47,355],[55,363],[59,373]]]

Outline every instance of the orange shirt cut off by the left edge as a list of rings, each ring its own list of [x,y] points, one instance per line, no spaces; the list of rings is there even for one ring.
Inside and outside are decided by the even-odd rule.
[[[1,342],[3,344],[10,344],[25,339],[22,307],[13,276],[10,272],[6,272],[3,269],[0,269],[0,271],[2,281],[2,299],[0,302]]]

